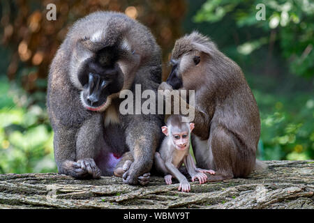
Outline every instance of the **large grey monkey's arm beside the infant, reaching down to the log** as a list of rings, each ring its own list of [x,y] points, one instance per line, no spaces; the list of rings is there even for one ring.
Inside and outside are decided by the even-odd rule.
[[[152,79],[152,74],[154,74],[154,78],[156,79]],[[136,84],[140,84],[142,91],[146,89],[157,91],[160,74],[160,66],[147,66],[141,70],[137,70],[133,89]],[[134,106],[137,106],[136,103],[134,103]],[[124,182],[134,185],[137,184],[138,176],[151,171],[154,153],[163,137],[160,128],[164,117],[163,115],[130,114],[123,118],[126,124],[124,126],[126,129],[126,144],[130,148],[130,151],[133,152],[134,158],[134,162],[131,164],[130,169],[126,171],[123,178]]]

